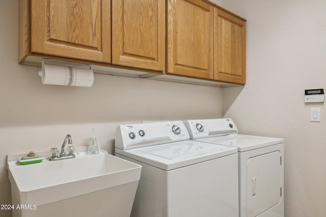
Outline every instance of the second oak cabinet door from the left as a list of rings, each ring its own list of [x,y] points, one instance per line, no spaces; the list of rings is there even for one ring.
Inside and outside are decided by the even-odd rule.
[[[164,71],[165,1],[112,0],[112,64]]]

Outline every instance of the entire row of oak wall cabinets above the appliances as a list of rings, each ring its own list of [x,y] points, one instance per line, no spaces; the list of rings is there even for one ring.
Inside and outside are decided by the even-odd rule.
[[[208,0],[20,0],[28,56],[244,84],[246,20]]]

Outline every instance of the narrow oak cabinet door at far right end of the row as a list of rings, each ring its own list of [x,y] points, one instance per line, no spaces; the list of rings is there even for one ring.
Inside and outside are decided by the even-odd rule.
[[[215,8],[214,80],[246,83],[246,22]]]

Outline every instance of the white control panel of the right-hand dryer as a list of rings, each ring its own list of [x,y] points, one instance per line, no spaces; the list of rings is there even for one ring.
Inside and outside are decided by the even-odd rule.
[[[231,118],[185,120],[184,125],[191,139],[229,135],[238,132]]]

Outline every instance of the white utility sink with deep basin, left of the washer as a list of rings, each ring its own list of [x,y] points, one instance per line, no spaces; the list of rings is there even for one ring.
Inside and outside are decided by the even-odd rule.
[[[29,165],[10,161],[8,174],[13,204],[31,205],[28,206],[31,209],[25,207],[14,210],[13,216],[51,216],[49,213],[53,211],[52,208],[59,209],[61,216],[65,216],[63,213],[67,214],[66,216],[97,216],[94,212],[101,203],[105,203],[103,207],[113,206],[112,210],[105,210],[105,213],[118,212],[117,209],[122,206],[125,214],[116,213],[110,216],[129,216],[130,211],[128,213],[126,210],[131,210],[141,166],[101,150],[99,154],[94,155],[79,152],[76,153],[76,158],[60,161],[48,161],[48,158],[44,158],[41,163]],[[107,201],[109,199],[105,197],[110,197],[113,201]],[[72,200],[71,204],[69,199]],[[94,204],[90,201],[94,201]],[[61,204],[51,208],[49,204],[52,203]],[[36,209],[33,209],[33,206]],[[65,206],[67,211],[62,210]],[[77,210],[83,207],[87,210],[76,215],[76,209],[71,209],[72,206],[76,206]],[[69,207],[73,210],[70,214]],[[44,213],[36,215],[36,211],[42,210]]]

